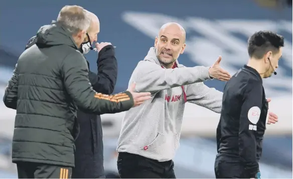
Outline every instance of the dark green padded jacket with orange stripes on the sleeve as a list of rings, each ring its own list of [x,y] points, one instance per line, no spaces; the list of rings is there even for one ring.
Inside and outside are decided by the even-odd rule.
[[[36,45],[20,56],[4,95],[17,109],[13,162],[74,166],[76,109],[104,114],[130,109],[128,91],[103,95],[92,89],[87,62],[60,24],[42,27]]]

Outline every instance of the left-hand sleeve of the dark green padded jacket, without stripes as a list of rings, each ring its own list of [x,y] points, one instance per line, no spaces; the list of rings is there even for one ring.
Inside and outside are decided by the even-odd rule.
[[[13,76],[8,82],[8,86],[5,89],[5,94],[3,97],[3,102],[6,107],[11,109],[17,108],[17,101],[18,101],[18,70],[17,64],[13,71]]]

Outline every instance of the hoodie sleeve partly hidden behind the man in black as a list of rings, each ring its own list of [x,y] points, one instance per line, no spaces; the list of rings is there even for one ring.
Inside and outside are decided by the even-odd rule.
[[[187,85],[186,98],[188,102],[221,113],[223,93],[209,88],[203,82]]]

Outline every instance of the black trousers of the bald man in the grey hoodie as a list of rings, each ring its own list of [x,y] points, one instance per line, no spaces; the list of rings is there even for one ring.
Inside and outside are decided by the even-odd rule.
[[[176,178],[173,160],[160,162],[140,155],[120,152],[117,168],[121,178]]]

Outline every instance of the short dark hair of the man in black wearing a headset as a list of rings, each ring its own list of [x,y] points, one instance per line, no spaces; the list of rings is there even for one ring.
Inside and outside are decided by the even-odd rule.
[[[270,31],[258,31],[248,39],[250,58],[261,59],[269,51],[277,53],[280,47],[284,47],[284,38]]]

